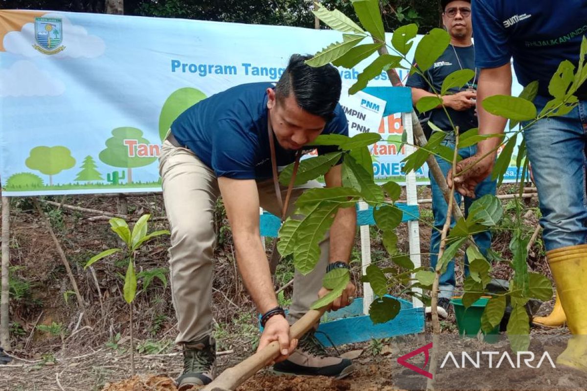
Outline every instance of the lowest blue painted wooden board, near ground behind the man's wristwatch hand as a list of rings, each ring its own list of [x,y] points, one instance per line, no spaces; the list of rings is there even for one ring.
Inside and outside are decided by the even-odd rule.
[[[373,338],[417,334],[424,331],[424,308],[413,308],[409,301],[398,299],[402,304],[399,314],[391,321],[373,324],[369,315],[363,315],[363,298],[356,298],[352,305],[335,312],[325,314],[328,321],[321,322],[316,333],[325,346],[330,341],[335,346],[370,341]],[[328,335],[328,338],[326,335]]]

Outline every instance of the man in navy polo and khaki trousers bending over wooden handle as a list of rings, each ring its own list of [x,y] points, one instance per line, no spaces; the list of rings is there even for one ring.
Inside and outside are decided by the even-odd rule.
[[[293,55],[275,86],[243,84],[198,102],[174,121],[163,143],[160,174],[171,228],[171,287],[180,331],[176,342],[184,348],[184,370],[177,380],[180,389],[214,378],[212,255],[214,206],[220,195],[242,280],[258,311],[275,315],[267,317],[259,341],[259,349],[279,341],[282,356],[274,370],[336,378],[353,370],[348,359],[328,356],[313,331],[299,343],[291,339],[289,324],[301,318],[319,295],[328,293],[322,277],[329,265],[347,267],[355,239],[355,209],[337,213],[332,234],[321,243],[322,256],[315,270],[306,276],[296,271],[288,319],[278,307],[259,234],[259,206],[281,215],[272,181],[270,144],[274,144],[276,165],[283,167],[294,162],[296,151],[320,134],[348,135],[348,123],[338,104],[338,70],[330,65],[310,67],[305,64],[308,58]],[[342,186],[342,166],[333,166],[325,182],[329,187]],[[321,185],[312,181],[295,188],[287,214],[293,212],[293,203],[304,189],[316,186]],[[280,191],[285,199],[286,188]],[[354,295],[355,285],[349,283],[333,309],[348,305]]]

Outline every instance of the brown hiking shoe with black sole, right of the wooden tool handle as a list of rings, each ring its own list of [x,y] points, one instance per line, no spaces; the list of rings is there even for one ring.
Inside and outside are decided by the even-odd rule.
[[[273,370],[283,375],[333,376],[342,379],[350,375],[355,366],[349,359],[329,356],[311,330],[299,339],[298,348],[288,359],[276,363]]]

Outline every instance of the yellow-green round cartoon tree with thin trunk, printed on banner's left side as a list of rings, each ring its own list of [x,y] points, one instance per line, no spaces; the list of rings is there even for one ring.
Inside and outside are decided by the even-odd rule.
[[[72,168],[75,165],[75,159],[69,148],[60,145],[57,147],[43,145],[31,149],[31,154],[26,158],[25,165],[30,169],[49,175],[49,186],[52,186],[53,175],[59,174],[64,169]]]

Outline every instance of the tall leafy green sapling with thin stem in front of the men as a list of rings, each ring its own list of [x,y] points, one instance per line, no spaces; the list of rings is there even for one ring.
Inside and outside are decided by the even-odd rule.
[[[388,74],[393,73],[394,68],[409,69],[410,73],[419,73],[426,79],[422,70],[428,69],[450,43],[450,37],[446,31],[441,29],[431,30],[420,40],[416,47],[415,62],[418,67],[414,67],[411,61],[407,59],[407,53],[413,46],[417,26],[407,25],[396,29],[391,39],[391,45],[389,45],[386,42],[379,2],[377,0],[356,0],[353,1],[353,6],[364,29],[343,15],[343,13],[336,10],[328,11],[319,4],[315,4],[314,14],[330,28],[342,32],[343,39],[342,42],[332,43],[332,45],[316,53],[312,59],[306,62],[311,66],[323,66],[332,63],[335,66],[352,69],[362,60],[375,52],[379,52],[380,55],[365,67],[365,70],[359,74],[356,83],[350,87],[350,94],[365,88],[370,80],[384,70]],[[372,40],[372,43],[359,45],[366,38]],[[387,53],[388,47],[396,55],[389,55]],[[498,182],[501,183],[511,160],[512,151],[517,145],[517,139],[524,127],[532,125],[543,118],[566,114],[576,106],[578,100],[573,94],[587,79],[586,54],[587,39],[583,38],[578,69],[575,72],[575,67],[568,61],[561,63],[549,85],[549,91],[554,98],[546,104],[541,113],[537,112],[532,103],[537,93],[537,82],[529,83],[519,97],[498,95],[491,96],[481,102],[488,112],[510,120],[510,132],[504,137],[505,147],[495,163],[492,178],[498,179]],[[447,91],[453,87],[463,87],[468,80],[472,79],[473,74],[473,70],[467,69],[458,70],[450,74],[444,80],[441,91],[436,91],[436,96],[434,97],[422,98],[417,104],[417,109],[424,112],[437,107],[442,103],[441,96],[447,94]],[[514,130],[521,121],[524,121],[524,127],[519,126],[518,130]],[[440,130],[433,123],[429,124],[434,130]],[[455,148],[457,150],[458,148],[475,145],[477,142],[489,137],[501,137],[479,135],[477,128],[459,135],[458,129],[453,126],[453,131],[458,138]],[[459,157],[455,149],[441,145],[444,137],[446,137],[445,132],[437,131],[433,133],[427,143],[420,140],[420,148],[404,159],[404,171],[409,172],[419,168],[424,162],[430,162],[431,157],[439,157],[448,162],[453,162],[453,159],[458,161]],[[318,261],[320,253],[318,242],[332,224],[336,211],[339,208],[353,206],[359,200],[364,200],[376,208],[373,212],[375,222],[379,229],[383,231],[383,244],[389,252],[390,260],[397,266],[382,269],[377,264],[372,264],[367,268],[366,276],[363,277],[363,280],[372,285],[377,296],[370,307],[370,317],[374,322],[386,322],[394,318],[400,310],[399,302],[393,298],[386,297],[385,294],[387,294],[391,284],[410,284],[414,281],[414,278],[411,277],[414,275],[417,282],[411,284],[404,293],[422,297],[419,290],[414,288],[431,290],[431,305],[436,334],[440,332],[440,324],[435,311],[438,278],[440,273],[445,270],[448,261],[453,259],[459,249],[465,250],[470,260],[471,276],[465,280],[464,284],[463,303],[465,307],[473,304],[481,295],[488,294],[486,287],[491,280],[491,264],[475,245],[473,234],[491,229],[497,224],[503,213],[501,202],[491,195],[476,200],[471,205],[466,218],[460,217],[456,219],[456,226],[450,229],[450,233],[448,233],[448,227],[443,230],[444,240],[443,244],[441,244],[441,253],[438,254],[437,270],[432,272],[424,270],[424,268],[414,268],[409,256],[400,254],[396,246],[397,236],[394,229],[402,219],[402,211],[394,205],[394,202],[399,198],[400,188],[394,182],[378,185],[373,179],[372,159],[368,145],[379,140],[379,134],[369,133],[359,134],[352,138],[342,135],[321,136],[316,140],[316,145],[337,145],[339,151],[302,161],[295,183],[303,183],[324,174],[331,166],[342,159],[343,187],[312,189],[304,193],[296,202],[298,207],[296,213],[303,217],[290,217],[286,220],[279,231],[280,242],[278,250],[283,256],[291,254],[296,268],[302,273],[309,273]],[[402,144],[405,144],[406,141],[407,136],[404,133]],[[471,169],[471,166],[465,168],[464,172]],[[521,192],[523,191],[523,179],[526,178],[528,168],[524,141],[519,147],[517,166],[522,172]],[[289,166],[282,172],[280,181],[287,184],[291,175],[292,166]],[[457,173],[453,172],[453,175],[457,176]],[[453,199],[453,192],[454,189],[450,189],[448,194],[445,191],[448,200]],[[387,198],[385,195],[387,195]],[[447,213],[447,216],[448,222],[450,222],[451,213]],[[508,337],[512,343],[512,348],[518,351],[527,349],[529,344],[529,319],[524,305],[529,298],[549,300],[552,297],[552,285],[548,278],[538,273],[528,273],[526,263],[527,243],[528,238],[522,235],[521,230],[515,230],[514,237],[510,243],[510,249],[513,254],[510,264],[514,270],[510,291],[505,294],[492,295],[493,297],[485,308],[482,319],[484,331],[488,331],[499,324],[504,315],[505,303],[509,298],[512,304],[512,315],[508,322]],[[321,307],[328,301],[333,300],[333,298],[340,295],[340,292],[346,286],[349,279],[348,271],[336,270],[336,273],[333,272],[328,273],[324,280],[324,286],[331,288],[332,292],[317,301],[313,308]],[[431,289],[432,287],[434,289]]]

